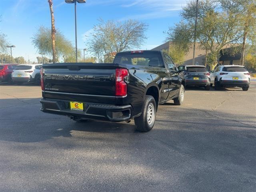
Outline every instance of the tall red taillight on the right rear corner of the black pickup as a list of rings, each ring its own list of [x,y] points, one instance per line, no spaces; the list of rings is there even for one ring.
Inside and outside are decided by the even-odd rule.
[[[116,96],[126,96],[127,84],[124,78],[128,76],[127,69],[116,69]]]

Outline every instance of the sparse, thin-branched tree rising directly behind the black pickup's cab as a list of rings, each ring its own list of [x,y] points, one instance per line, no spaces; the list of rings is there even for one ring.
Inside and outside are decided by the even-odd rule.
[[[99,59],[106,54],[139,48],[146,40],[147,28],[148,24],[137,20],[100,20],[93,28],[88,50]]]

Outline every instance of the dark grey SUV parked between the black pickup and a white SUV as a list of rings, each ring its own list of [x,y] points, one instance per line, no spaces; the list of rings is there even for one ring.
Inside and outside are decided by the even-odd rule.
[[[179,66],[179,71],[184,73],[186,86],[200,86],[210,90],[210,72],[205,66],[186,65]]]

